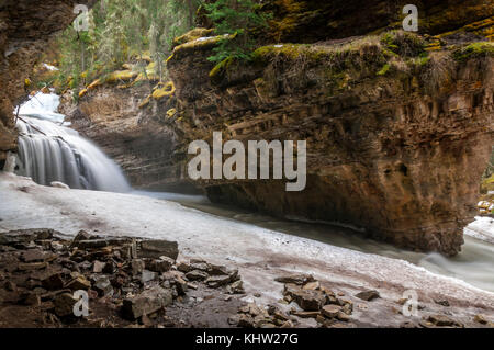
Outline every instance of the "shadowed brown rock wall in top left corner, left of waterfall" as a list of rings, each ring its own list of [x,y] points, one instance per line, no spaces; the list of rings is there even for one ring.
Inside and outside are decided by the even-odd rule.
[[[13,109],[26,94],[26,80],[52,36],[76,16],[76,4],[94,0],[5,0],[0,4],[0,168],[16,148]]]

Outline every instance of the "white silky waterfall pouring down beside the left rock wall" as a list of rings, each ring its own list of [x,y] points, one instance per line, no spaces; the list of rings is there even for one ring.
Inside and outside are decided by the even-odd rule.
[[[59,97],[37,93],[19,109],[18,174],[40,184],[60,181],[72,189],[131,190],[119,166],[97,146],[64,125],[55,113]]]

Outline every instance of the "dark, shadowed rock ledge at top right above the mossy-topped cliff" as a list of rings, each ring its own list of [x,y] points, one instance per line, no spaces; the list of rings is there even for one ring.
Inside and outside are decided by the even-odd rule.
[[[262,11],[272,13],[269,21],[271,42],[314,43],[384,29],[401,29],[406,0],[267,0]],[[414,1],[418,9],[419,32],[440,34],[467,24],[472,30],[492,25],[494,9],[483,0]],[[491,18],[491,19],[490,19]],[[485,21],[485,19],[489,19]],[[492,32],[491,32],[492,34]]]

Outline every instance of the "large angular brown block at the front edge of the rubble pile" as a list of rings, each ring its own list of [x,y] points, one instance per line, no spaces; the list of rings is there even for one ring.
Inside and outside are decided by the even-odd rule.
[[[122,313],[128,319],[136,319],[143,315],[153,314],[171,303],[171,292],[160,286],[155,286],[135,297],[124,300]]]

